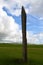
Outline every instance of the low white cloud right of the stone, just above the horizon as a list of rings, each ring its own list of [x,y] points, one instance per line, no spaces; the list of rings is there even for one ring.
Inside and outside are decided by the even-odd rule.
[[[27,42],[31,44],[43,44],[43,33],[33,34],[31,31],[28,31]]]

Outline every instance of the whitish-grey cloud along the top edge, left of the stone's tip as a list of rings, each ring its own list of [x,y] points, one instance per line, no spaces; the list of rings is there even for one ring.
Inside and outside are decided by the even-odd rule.
[[[8,8],[8,10],[16,16],[21,15],[21,7],[24,6],[26,7],[26,5],[29,3],[28,0],[2,0],[1,1],[6,8]],[[16,9],[15,9],[16,8]],[[26,9],[26,13],[28,13],[28,9]]]

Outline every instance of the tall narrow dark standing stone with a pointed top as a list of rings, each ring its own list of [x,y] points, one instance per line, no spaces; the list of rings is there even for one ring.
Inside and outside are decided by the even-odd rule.
[[[27,62],[27,39],[26,39],[26,12],[24,7],[22,6],[21,11],[21,19],[22,19],[22,42],[23,42],[23,61]]]

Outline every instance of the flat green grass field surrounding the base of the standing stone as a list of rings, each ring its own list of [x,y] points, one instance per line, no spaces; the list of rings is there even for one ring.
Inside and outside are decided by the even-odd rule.
[[[0,44],[0,65],[43,65],[43,45],[28,45],[28,62],[22,62],[22,45]]]

